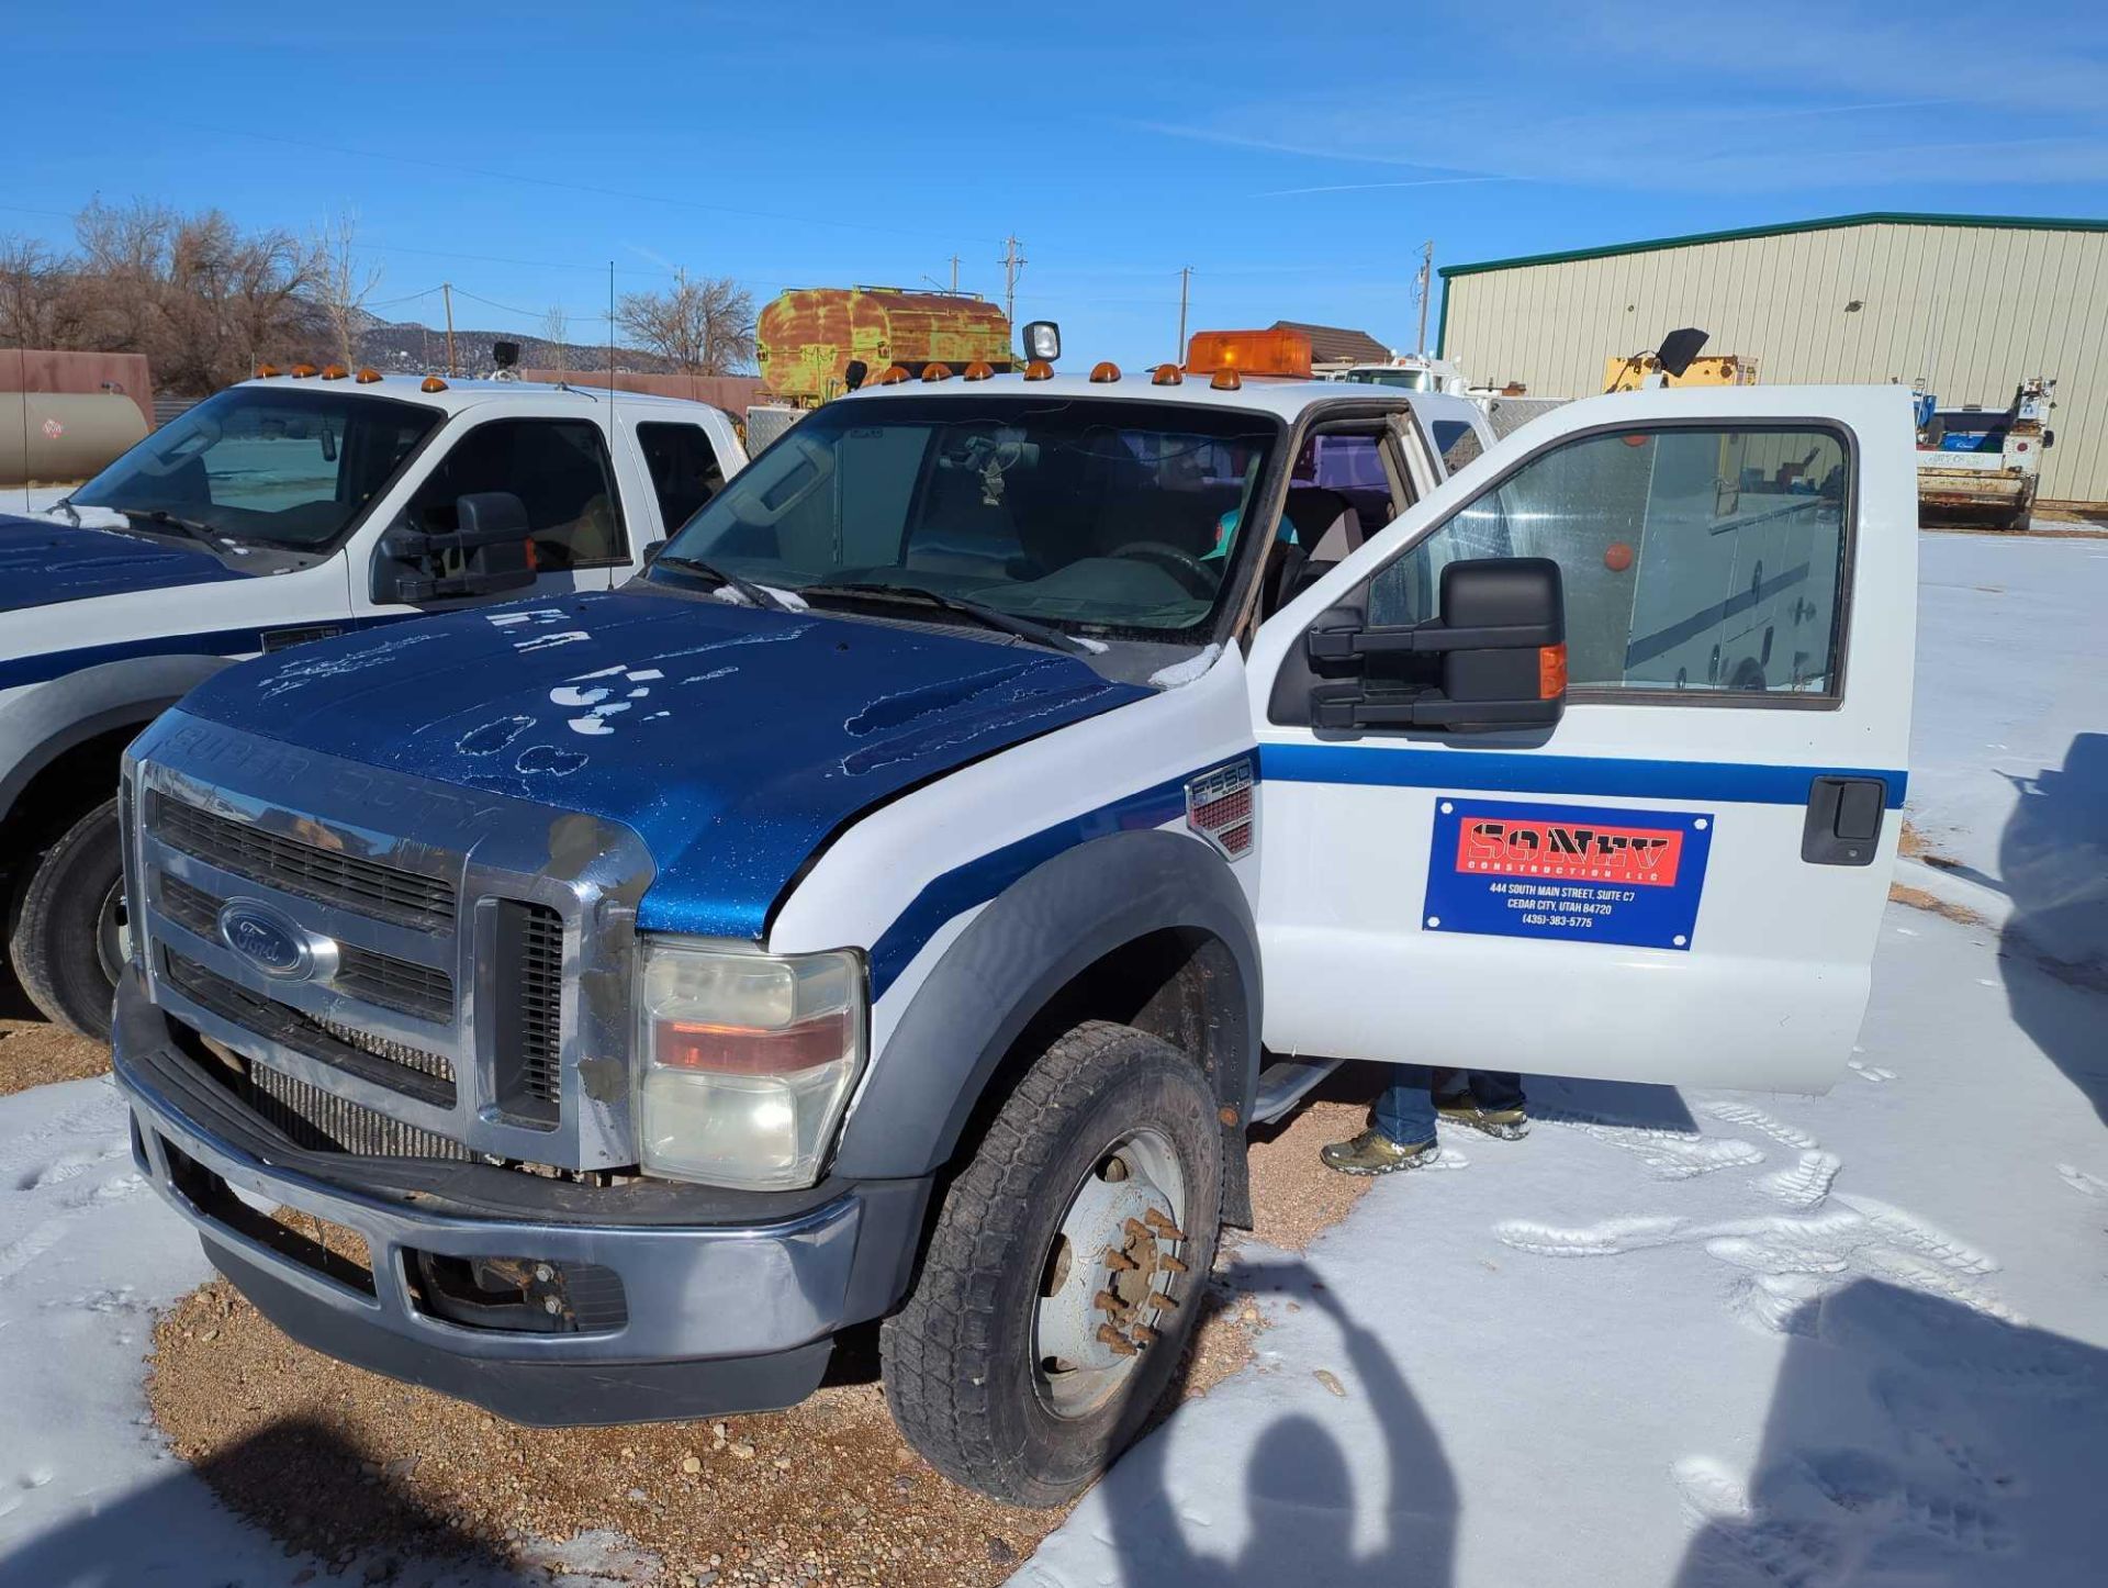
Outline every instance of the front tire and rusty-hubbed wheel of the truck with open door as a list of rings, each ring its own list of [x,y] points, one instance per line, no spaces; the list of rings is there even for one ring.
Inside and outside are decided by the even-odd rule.
[[[1223,1135],[1168,1042],[1088,1021],[1018,1082],[879,1333],[885,1400],[944,1476],[1058,1506],[1172,1386],[1214,1263]]]

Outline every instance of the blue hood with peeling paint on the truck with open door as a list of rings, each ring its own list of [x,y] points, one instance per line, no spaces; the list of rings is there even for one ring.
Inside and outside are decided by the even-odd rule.
[[[858,812],[1147,696],[1071,656],[624,590],[301,645],[183,711],[624,822],[658,865],[641,926],[759,938]]]

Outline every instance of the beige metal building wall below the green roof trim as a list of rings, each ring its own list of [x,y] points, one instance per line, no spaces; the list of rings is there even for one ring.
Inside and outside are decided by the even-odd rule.
[[[2108,221],[1851,221],[1444,272],[1440,348],[1473,384],[1585,396],[1604,359],[1680,325],[1764,386],[1925,380],[1941,405],[2005,407],[2055,377],[2041,493],[2108,502]]]

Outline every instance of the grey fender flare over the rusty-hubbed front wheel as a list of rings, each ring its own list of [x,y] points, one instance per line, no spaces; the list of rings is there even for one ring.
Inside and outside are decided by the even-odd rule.
[[[1240,987],[1212,1010],[1212,1069],[1218,1101],[1237,1111],[1237,1124],[1225,1124],[1225,1145],[1233,1139],[1242,1147],[1258,1080],[1252,907],[1212,848],[1138,829],[1062,850],[974,917],[915,989],[877,1057],[833,1173],[894,1179],[940,1168],[1033,1016],[1086,968],[1166,928],[1214,938],[1235,966]]]

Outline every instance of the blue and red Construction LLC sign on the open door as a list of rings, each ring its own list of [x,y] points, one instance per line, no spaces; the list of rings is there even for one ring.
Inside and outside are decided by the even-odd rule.
[[[1421,928],[1689,949],[1712,829],[1705,812],[1442,795]]]

